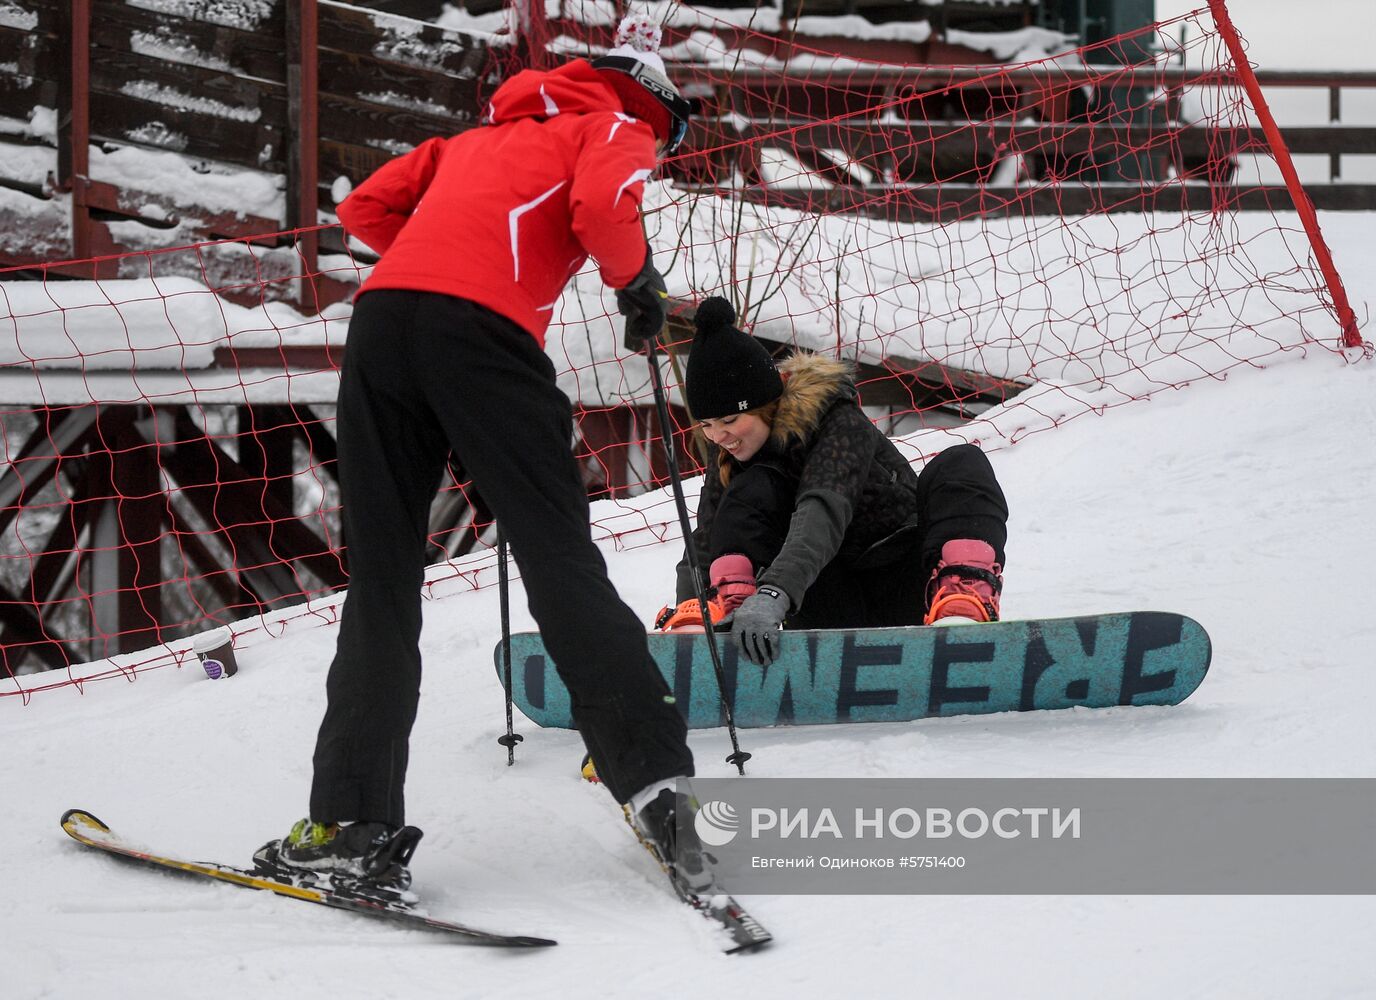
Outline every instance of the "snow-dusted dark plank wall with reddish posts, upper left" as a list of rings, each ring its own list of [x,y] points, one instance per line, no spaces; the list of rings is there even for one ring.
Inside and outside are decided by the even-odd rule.
[[[0,208],[0,264],[140,249],[111,235],[116,219],[195,219],[195,239],[314,226],[336,177],[356,183],[476,124],[483,81],[506,58],[483,39],[333,0],[264,4],[260,19],[233,10],[0,0],[0,114],[58,111],[56,135],[0,135],[0,186],[36,204],[70,195],[69,219]],[[172,204],[155,179],[140,188],[92,176],[92,144],[285,176],[285,204],[272,216]],[[36,153],[54,147],[50,168],[36,166]]]

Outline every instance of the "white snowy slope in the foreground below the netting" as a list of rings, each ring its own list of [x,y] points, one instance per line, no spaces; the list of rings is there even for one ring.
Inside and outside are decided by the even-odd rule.
[[[1357,221],[1333,228],[1369,232]],[[1335,252],[1365,316],[1362,248]],[[1203,688],[1175,708],[744,730],[751,776],[1373,776],[1373,439],[1376,365],[1313,351],[993,453],[1013,506],[1004,613],[1185,612],[1215,641]],[[608,550],[643,616],[674,557]],[[260,638],[228,682],[160,669],[0,699],[0,996],[1376,996],[1376,901],[1358,897],[755,897],[777,944],[718,956],[578,780],[572,733],[519,724],[505,766],[497,623],[495,589],[427,605],[414,869],[436,913],[560,948],[453,946],[147,875],[61,834],[83,806],[200,857],[282,835],[305,807],[325,626]],[[700,773],[728,773],[722,732],[692,744]]]

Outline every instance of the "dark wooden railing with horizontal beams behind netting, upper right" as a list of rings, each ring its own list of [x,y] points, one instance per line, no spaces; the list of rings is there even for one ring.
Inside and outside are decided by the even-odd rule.
[[[1376,125],[1343,124],[1342,95],[1376,89],[1376,73],[1260,72],[1258,77],[1270,89],[1328,91],[1331,124],[1284,128],[1285,143],[1295,155],[1328,157],[1329,183],[1306,186],[1318,208],[1376,209],[1376,184],[1340,183],[1343,157],[1376,154]],[[1077,114],[1066,106],[1068,92],[1094,84],[1160,96],[1132,116]],[[689,157],[674,169],[703,190],[894,221],[1004,212],[1284,208],[1289,194],[1280,184],[1233,183],[1240,157],[1269,150],[1260,128],[1182,120],[1183,89],[1233,85],[1230,74],[1216,70],[1049,65],[861,66],[846,72],[842,88],[802,72],[742,69],[729,84],[716,85],[713,114],[696,125],[689,143],[714,153]],[[798,161],[808,183],[771,183],[761,169],[771,147]],[[837,151],[845,154],[839,161]],[[1126,160],[1124,151],[1131,151],[1137,176],[1109,168],[1082,172],[1075,184],[1036,183],[1064,177],[1068,161],[1104,151],[1109,160]],[[1000,184],[998,166],[1011,157],[1025,161],[1021,183]],[[1185,183],[1160,183],[1167,179]]]

